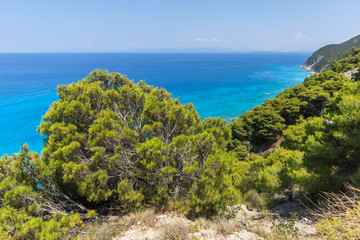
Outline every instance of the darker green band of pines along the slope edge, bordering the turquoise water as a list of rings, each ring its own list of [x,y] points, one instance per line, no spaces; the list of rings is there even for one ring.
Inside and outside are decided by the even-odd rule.
[[[303,84],[240,115],[230,124],[233,140],[250,141],[256,151],[262,144],[279,139],[286,127],[299,118],[322,115],[334,93],[349,81],[332,70],[306,78]]]

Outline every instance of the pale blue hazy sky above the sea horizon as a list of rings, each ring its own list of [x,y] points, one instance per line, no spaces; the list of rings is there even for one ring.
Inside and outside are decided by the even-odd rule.
[[[360,34],[359,0],[0,0],[0,52],[313,52]]]

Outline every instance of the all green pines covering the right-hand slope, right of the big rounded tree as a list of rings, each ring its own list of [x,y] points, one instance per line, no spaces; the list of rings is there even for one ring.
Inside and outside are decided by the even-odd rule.
[[[284,138],[282,148],[263,157],[238,154],[251,166],[243,191],[283,192],[291,199],[296,189],[316,199],[322,191],[340,190],[344,182],[360,183],[360,84],[343,74],[358,62],[359,50],[353,49],[351,56],[334,62],[337,72],[314,74],[230,124],[229,146],[235,152],[244,146],[256,152],[263,150],[261,144]]]

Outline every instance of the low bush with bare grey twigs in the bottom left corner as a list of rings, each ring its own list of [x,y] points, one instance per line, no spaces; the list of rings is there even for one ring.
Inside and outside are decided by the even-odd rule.
[[[39,155],[27,145],[0,158],[0,236],[3,239],[71,237],[83,221],[74,202],[42,176]],[[74,205],[75,204],[75,205]],[[85,209],[84,209],[85,210]],[[86,211],[83,211],[86,213]]]

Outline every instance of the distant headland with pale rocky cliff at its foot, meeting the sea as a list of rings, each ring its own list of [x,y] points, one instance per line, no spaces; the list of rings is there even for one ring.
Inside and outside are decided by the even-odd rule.
[[[329,68],[332,61],[347,57],[353,47],[360,47],[360,35],[340,44],[320,48],[308,58],[302,68],[311,72],[321,72]]]

